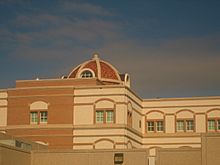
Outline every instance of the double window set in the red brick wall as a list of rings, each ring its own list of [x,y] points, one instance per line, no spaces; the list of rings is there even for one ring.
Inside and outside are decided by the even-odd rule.
[[[47,123],[48,113],[47,111],[34,111],[30,112],[31,124],[43,124]]]

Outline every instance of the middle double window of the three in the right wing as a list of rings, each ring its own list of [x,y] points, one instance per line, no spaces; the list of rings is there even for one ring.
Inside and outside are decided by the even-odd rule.
[[[176,121],[177,132],[192,132],[194,131],[194,120],[177,120]]]

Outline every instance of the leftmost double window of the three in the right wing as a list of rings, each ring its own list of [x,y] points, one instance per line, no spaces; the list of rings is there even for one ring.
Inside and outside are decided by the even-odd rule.
[[[162,120],[159,121],[147,121],[147,132],[164,132],[164,122]]]

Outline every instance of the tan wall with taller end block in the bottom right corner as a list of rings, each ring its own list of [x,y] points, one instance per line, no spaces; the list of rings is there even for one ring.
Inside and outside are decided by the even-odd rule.
[[[220,134],[202,134],[201,140],[201,148],[158,148],[156,165],[219,165]]]

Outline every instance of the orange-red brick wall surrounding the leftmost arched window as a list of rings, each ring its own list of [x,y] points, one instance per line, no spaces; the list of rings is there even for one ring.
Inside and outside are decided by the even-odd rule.
[[[72,148],[72,128],[56,128],[53,124],[73,123],[73,88],[14,89],[8,91],[7,133],[32,141],[49,143],[49,148]],[[48,123],[30,124],[30,104],[35,101],[48,103]],[[26,125],[26,128],[21,128]],[[16,128],[19,127],[20,128]],[[49,127],[48,127],[49,126]],[[15,127],[15,128],[13,128]],[[36,127],[36,128],[35,128]]]

